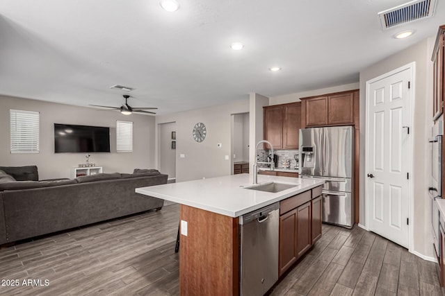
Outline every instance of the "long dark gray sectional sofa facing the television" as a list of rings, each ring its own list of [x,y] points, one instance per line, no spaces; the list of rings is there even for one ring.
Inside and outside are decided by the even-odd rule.
[[[167,183],[156,170],[38,181],[35,166],[0,166],[0,245],[149,209],[163,200],[134,192]]]

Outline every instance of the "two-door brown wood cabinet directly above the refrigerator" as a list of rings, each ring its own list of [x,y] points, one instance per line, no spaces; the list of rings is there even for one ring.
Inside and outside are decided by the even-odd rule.
[[[301,98],[303,128],[355,124],[358,99],[358,90]]]

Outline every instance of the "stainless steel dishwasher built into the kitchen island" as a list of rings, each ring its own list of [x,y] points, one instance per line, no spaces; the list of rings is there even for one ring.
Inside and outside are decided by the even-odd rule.
[[[240,295],[264,295],[278,280],[280,202],[239,218]]]

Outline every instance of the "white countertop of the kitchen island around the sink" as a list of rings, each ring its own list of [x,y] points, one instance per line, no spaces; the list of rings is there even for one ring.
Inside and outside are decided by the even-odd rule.
[[[243,187],[253,185],[251,177],[239,174],[147,186],[136,188],[136,192],[235,218],[324,183],[316,179],[258,175],[259,184],[273,181],[296,184],[296,187],[278,193],[245,189]]]

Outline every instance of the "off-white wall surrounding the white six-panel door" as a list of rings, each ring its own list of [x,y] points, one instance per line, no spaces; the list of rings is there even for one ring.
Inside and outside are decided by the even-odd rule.
[[[432,62],[430,61],[432,53],[431,40],[423,40],[404,51],[391,55],[371,67],[360,72],[360,175],[366,175],[365,172],[365,123],[366,123],[366,81],[377,76],[385,74],[391,70],[402,67],[410,62],[416,63],[415,82],[414,82],[414,110],[412,123],[413,130],[413,166],[410,172],[412,182],[414,183],[414,217],[412,221],[414,233],[413,251],[423,256],[432,258],[432,236],[430,230],[430,200],[428,198],[428,177],[426,177],[430,155],[428,146],[428,137],[432,125]],[[366,225],[365,209],[365,179],[360,178],[360,224]]]

